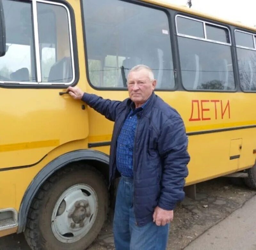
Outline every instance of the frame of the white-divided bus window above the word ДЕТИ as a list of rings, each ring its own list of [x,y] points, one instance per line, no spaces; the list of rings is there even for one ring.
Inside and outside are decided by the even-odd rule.
[[[177,51],[178,51],[178,65],[179,65],[179,68],[180,68],[180,52],[179,52],[179,43],[178,43],[178,36],[180,37],[187,37],[187,38],[190,38],[190,39],[195,39],[195,40],[201,40],[201,41],[207,41],[207,42],[212,42],[212,43],[218,43],[218,44],[221,44],[221,45],[228,45],[230,47],[230,53],[231,53],[231,60],[232,60],[232,67],[233,67],[233,73],[234,73],[234,84],[235,84],[235,88],[233,90],[204,90],[204,89],[198,89],[198,90],[189,90],[189,89],[186,89],[182,83],[182,76],[181,76],[181,71],[180,71],[180,85],[182,86],[182,89],[184,91],[187,91],[187,92],[214,92],[214,93],[236,93],[236,92],[239,92],[239,88],[238,86],[240,87],[240,81],[239,79],[237,79],[236,77],[236,71],[238,71],[238,68],[236,68],[235,64],[237,63],[236,62],[236,57],[234,56],[234,53],[232,51],[232,48],[233,48],[233,43],[232,43],[232,36],[231,36],[231,32],[232,32],[232,29],[230,27],[230,25],[227,24],[227,26],[225,25],[221,25],[221,24],[216,24],[215,21],[208,21],[208,20],[203,20],[203,19],[199,19],[200,17],[191,17],[191,16],[188,16],[189,14],[186,14],[186,13],[181,13],[181,12],[176,12],[174,14],[174,20],[175,20],[175,34],[176,34],[176,39],[177,39]],[[209,25],[212,25],[212,26],[219,26],[221,28],[225,28],[228,30],[228,34],[229,34],[229,41],[230,43],[224,43],[224,42],[220,42],[220,41],[215,41],[215,40],[210,40],[210,39],[205,39],[205,38],[200,38],[200,37],[194,37],[194,36],[189,36],[189,35],[185,35],[185,34],[180,34],[178,33],[178,29],[177,29],[177,16],[180,16],[180,17],[184,17],[184,18],[188,18],[188,19],[192,19],[192,20],[195,20],[195,21],[200,21],[200,22],[203,22],[205,24],[209,24]],[[205,24],[204,24],[204,32],[206,33],[206,29],[205,29]],[[204,33],[204,35],[206,35]],[[239,83],[239,84],[238,84]],[[241,89],[241,87],[240,87]]]

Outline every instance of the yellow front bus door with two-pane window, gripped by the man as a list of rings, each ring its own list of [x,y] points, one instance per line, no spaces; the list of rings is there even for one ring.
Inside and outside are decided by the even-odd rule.
[[[88,119],[82,102],[59,95],[78,80],[70,10],[43,1],[2,2],[7,50],[0,57],[4,170],[35,165],[55,147],[86,138]]]

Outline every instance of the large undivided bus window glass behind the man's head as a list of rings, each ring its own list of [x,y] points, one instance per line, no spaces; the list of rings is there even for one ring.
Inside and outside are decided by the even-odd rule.
[[[99,83],[90,62],[104,56],[102,88],[126,88],[123,79],[137,64],[152,68],[158,89],[174,88],[169,23],[163,11],[124,1],[84,0],[83,14],[88,78],[93,86]]]

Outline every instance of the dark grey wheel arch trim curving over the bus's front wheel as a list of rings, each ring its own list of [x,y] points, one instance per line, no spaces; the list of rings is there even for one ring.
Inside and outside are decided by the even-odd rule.
[[[29,184],[20,204],[18,216],[18,230],[21,233],[25,229],[27,222],[28,210],[35,197],[38,189],[42,186],[53,173],[74,162],[86,162],[99,170],[108,181],[108,164],[109,156],[96,150],[77,150],[68,152],[55,158],[50,163],[44,166]]]

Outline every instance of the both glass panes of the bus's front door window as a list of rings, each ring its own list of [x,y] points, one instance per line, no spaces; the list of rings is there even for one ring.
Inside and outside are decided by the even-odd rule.
[[[67,7],[35,4],[37,13],[32,11],[32,1],[3,0],[7,52],[0,58],[0,81],[37,84],[41,78],[43,83],[70,83],[74,65]],[[38,26],[33,23],[32,13]],[[34,48],[37,32],[39,53]]]

